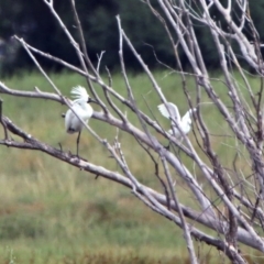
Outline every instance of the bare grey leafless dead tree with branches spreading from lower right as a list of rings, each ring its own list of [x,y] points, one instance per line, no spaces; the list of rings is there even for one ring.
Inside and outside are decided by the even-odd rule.
[[[112,78],[109,70],[109,84],[106,84],[103,78],[101,78],[99,69],[103,53],[99,56],[97,66],[90,61],[81,29],[81,21],[76,11],[76,2],[74,0],[70,1],[74,11],[74,19],[78,29],[79,43],[73,37],[67,25],[59,18],[53,6],[53,1],[43,1],[51,10],[52,15],[56,19],[61,30],[65,33],[66,40],[73,45],[76,56],[79,59],[80,67],[76,67],[61,58],[38,51],[36,47],[29,45],[24,40],[15,36],[55,92],[42,91],[38,88],[35,88],[34,90],[29,88],[26,91],[21,91],[20,89],[13,89],[3,82],[0,82],[0,94],[7,94],[14,98],[26,97],[29,100],[36,98],[48,99],[65,103],[72,108],[70,101],[66,99],[54,85],[47,73],[45,73],[36,61],[34,54],[38,54],[84,76],[87,80],[88,88],[102,109],[101,112],[95,112],[94,118],[105,122],[106,125],[117,128],[118,131],[129,133],[136,140],[138,144],[143,148],[144,154],[152,160],[152,169],[158,178],[164,194],[157,193],[139,180],[138,175],[127,162],[118,135],[114,139],[114,145],[111,145],[109,139],[102,139],[100,134],[96,133],[85,123],[84,127],[96,138],[98,144],[101,144],[105,147],[107,153],[106,157],[110,154],[117,162],[119,168],[121,168],[122,174],[91,164],[81,157],[77,158],[69,153],[63,152],[62,148],[54,148],[41,140],[35,139],[34,135],[24,132],[7,118],[9,114],[2,110],[1,100],[0,123],[3,127],[4,139],[0,140],[0,144],[9,147],[44,152],[61,162],[66,162],[80,169],[97,176],[100,175],[106,179],[113,180],[130,188],[132,194],[145,206],[164,216],[166,219],[169,219],[183,229],[191,263],[198,262],[194,246],[194,238],[222,251],[233,263],[246,263],[242,253],[239,251],[238,243],[264,252],[264,239],[260,237],[257,230],[260,227],[262,229],[264,228],[263,80],[261,79],[260,89],[257,94],[255,94],[250,85],[245,70],[240,65],[240,61],[238,59],[238,55],[234,53],[231,43],[231,41],[237,42],[240,46],[243,58],[260,77],[263,77],[264,63],[260,51],[261,44],[257,37],[258,34],[254,28],[254,22],[250,16],[250,12],[248,12],[249,1],[228,0],[227,6],[223,6],[220,0],[199,0],[195,1],[195,3],[186,0],[157,0],[157,3],[160,4],[158,11],[153,8],[151,1],[142,1],[150,8],[150,12],[153,12],[163,24],[164,32],[170,41],[175,54],[175,61],[178,65],[178,69],[175,69],[175,73],[182,77],[182,88],[186,96],[187,105],[193,108],[193,101],[196,100],[198,109],[197,119],[195,120],[198,130],[198,132],[195,133],[196,145],[191,143],[188,135],[184,133],[182,133],[184,138],[184,144],[182,144],[174,138],[174,135],[170,135],[165,132],[164,128],[161,128],[153,112],[152,117],[148,117],[142,109],[140,109],[134,97],[134,88],[130,85],[130,79],[125,69],[123,54],[124,44],[129,46],[130,51],[140,63],[143,72],[148,77],[153,87],[153,92],[158,96],[163,103],[167,102],[167,98],[164,96],[163,88],[158,85],[158,80],[155,79],[142,56],[134,48],[133,43],[129,37],[130,33],[124,32],[119,15],[117,16],[117,28],[119,30],[119,58],[127,88],[125,97],[121,96],[113,89]],[[198,7],[198,9],[195,9],[194,4],[196,8]],[[232,19],[232,7],[234,4],[237,4],[240,10],[240,19],[237,20],[237,22]],[[222,29],[219,23],[215,21],[215,18],[211,14],[212,7],[218,10],[219,15],[221,15],[229,24],[229,31]],[[224,89],[227,89],[231,106],[228,106],[221,99],[219,91],[213,88],[212,79],[210,78],[200,52],[199,40],[196,36],[194,24],[197,21],[202,23],[211,34],[216,52],[219,56],[221,72],[224,77],[224,80],[221,81],[224,85]],[[254,41],[253,44],[250,43],[243,33],[245,24],[250,25],[252,38]],[[177,53],[179,46],[184,51],[190,65],[191,70],[188,73],[185,73],[182,68],[182,63]],[[230,62],[232,62],[232,64],[230,64]],[[232,72],[233,69],[240,73],[243,84],[237,81]],[[194,78],[196,98],[191,98],[188,94],[186,76]],[[95,87],[99,88],[96,89]],[[243,94],[242,88],[246,91],[246,96],[250,98],[249,101],[246,101],[246,96]],[[98,89],[102,92],[99,92]],[[208,96],[208,99],[210,100],[209,103],[212,103],[218,110],[229,129],[229,132],[220,135],[224,138],[228,134],[228,136],[235,142],[234,146],[232,146],[235,150],[235,154],[232,157],[233,167],[227,167],[227,165],[221,162],[221,158],[218,156],[218,152],[212,144],[213,134],[207,125],[202,111],[200,111],[200,106],[204,103],[201,101],[202,90]],[[108,106],[105,101],[108,102]],[[116,101],[119,103],[116,103]],[[122,106],[122,108],[120,106]],[[127,117],[128,111],[138,118],[139,125],[130,122]],[[116,118],[114,114],[118,118]],[[178,120],[176,120],[175,123],[179,131],[183,132],[178,127]],[[164,136],[164,139],[168,139],[174,151],[164,147],[152,131],[156,131]],[[22,141],[11,140],[11,134],[18,135]],[[227,145],[227,150],[228,147],[231,146]],[[154,158],[152,153],[155,153],[161,158],[162,166]],[[194,167],[199,168],[199,177],[197,177],[197,172],[190,172],[178,153],[186,154],[189,161],[193,162]],[[251,167],[250,176],[243,174],[243,168],[238,160],[244,161],[249,164]],[[161,176],[161,167],[164,169],[165,179]],[[194,208],[190,208],[185,205],[183,197],[177,194],[177,188],[175,190],[170,172],[177,174],[177,177],[184,183],[186,190],[196,199],[199,209],[194,209],[195,206]],[[221,207],[223,207],[223,212]],[[193,224],[190,224],[191,221]],[[213,230],[216,234],[209,235],[207,232],[197,228],[194,222]]]

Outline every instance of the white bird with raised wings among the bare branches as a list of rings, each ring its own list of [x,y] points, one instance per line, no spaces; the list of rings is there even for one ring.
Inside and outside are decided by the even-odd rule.
[[[187,135],[189,133],[191,129],[191,116],[196,112],[196,108],[189,109],[182,119],[178,108],[172,102],[167,102],[166,106],[162,103],[157,108],[162,116],[172,120],[172,129],[168,131],[170,135],[182,140],[183,135],[178,128],[180,128],[184,134]]]

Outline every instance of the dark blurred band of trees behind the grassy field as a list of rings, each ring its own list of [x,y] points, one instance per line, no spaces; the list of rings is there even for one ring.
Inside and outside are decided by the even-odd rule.
[[[176,1],[177,2],[177,1]],[[73,19],[70,1],[54,1],[54,6],[67,28],[74,36],[77,36],[77,29]],[[190,1],[194,9],[199,12],[196,1]],[[264,42],[263,13],[264,0],[249,1],[255,28],[260,34],[260,42]],[[153,1],[153,7],[160,11],[157,3]],[[127,30],[129,37],[133,42],[136,51],[142,55],[145,63],[152,68],[158,67],[153,50],[163,63],[176,67],[173,50],[161,22],[150,12],[142,1],[127,0],[78,0],[76,8],[84,29],[84,35],[91,61],[97,62],[97,54],[106,51],[102,59],[102,67],[106,65],[113,69],[119,67],[118,57],[118,28],[116,15],[120,14],[122,26]],[[211,10],[216,21],[224,26],[215,8]],[[233,8],[233,18],[237,19],[238,9]],[[38,50],[61,57],[72,64],[78,65],[78,59],[69,43],[65,41],[64,33],[57,26],[54,19],[50,19],[51,13],[42,0],[13,0],[10,4],[7,0],[0,0],[0,65],[2,74],[11,74],[21,68],[32,68],[34,65],[16,41],[12,38],[14,34],[23,37],[29,44]],[[213,41],[208,29],[195,23],[197,38],[200,40],[200,48],[206,54],[205,63],[208,68],[219,67],[219,57],[215,51]],[[245,24],[244,33],[249,33]],[[36,37],[37,36],[37,37]],[[249,36],[250,40],[252,36]],[[127,47],[124,47],[127,48]],[[140,70],[138,62],[129,50],[124,50],[127,67]],[[238,54],[240,52],[238,51]],[[179,58],[184,67],[188,67],[187,59],[179,48]],[[243,62],[242,57],[239,58]],[[59,70],[61,66],[51,61],[38,58],[46,69]],[[246,64],[243,64],[248,67]]]

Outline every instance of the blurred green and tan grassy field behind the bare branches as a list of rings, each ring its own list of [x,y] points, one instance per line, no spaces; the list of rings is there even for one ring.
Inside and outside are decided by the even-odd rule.
[[[182,114],[185,113],[188,105],[180,78],[166,73],[156,73],[155,76],[165,96],[178,105]],[[74,74],[54,74],[51,78],[67,96],[73,86],[86,86],[85,79]],[[42,90],[53,91],[36,73],[24,73],[3,81],[14,89],[33,90],[37,86]],[[168,129],[169,122],[157,112],[160,100],[148,79],[143,75],[131,75],[130,81],[140,108],[151,114],[145,98],[158,122]],[[257,79],[250,81],[253,87],[258,86]],[[228,102],[227,88],[220,81],[215,85],[219,96]],[[113,87],[127,95],[124,82],[118,74],[113,76]],[[191,79],[187,80],[187,88],[195,102],[196,90]],[[99,89],[98,92],[101,94]],[[23,130],[53,146],[61,143],[64,150],[75,152],[76,135],[65,133],[61,118],[66,111],[65,106],[2,95],[1,98],[4,99],[3,113]],[[209,101],[206,95],[202,98]],[[228,133],[227,124],[212,105],[205,105],[202,113],[212,132]],[[138,123],[134,114],[128,112],[128,117]],[[106,129],[105,123],[96,120],[89,124],[102,138],[113,141],[114,128]],[[2,138],[2,130],[0,135]],[[158,134],[155,135],[160,139]],[[194,135],[190,138],[195,142]],[[120,139],[132,172],[142,183],[158,189],[150,158],[131,136],[121,132]],[[229,166],[226,144],[232,148],[234,143],[228,138],[213,139],[215,150]],[[87,131],[84,131],[80,142],[81,156],[117,169],[113,160]],[[187,158],[186,164],[193,169]],[[94,175],[38,152],[0,146],[0,263],[188,263],[182,230],[144,207],[129,189],[100,177],[95,179]],[[187,205],[196,204],[184,188],[180,197]],[[226,260],[204,244],[197,243],[196,248],[200,263]]]

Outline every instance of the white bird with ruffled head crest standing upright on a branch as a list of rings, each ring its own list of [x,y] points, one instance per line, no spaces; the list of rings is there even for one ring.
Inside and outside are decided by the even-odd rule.
[[[74,87],[70,91],[74,97],[74,101],[72,102],[72,108],[78,114],[78,117],[87,123],[94,113],[94,109],[89,105],[89,102],[96,102],[94,99],[89,97],[86,89],[81,86]],[[97,102],[96,102],[97,103]],[[84,127],[82,122],[76,117],[76,114],[68,109],[65,114],[65,129],[69,134],[78,132],[77,138],[77,156],[79,155],[79,139],[80,132]]]

